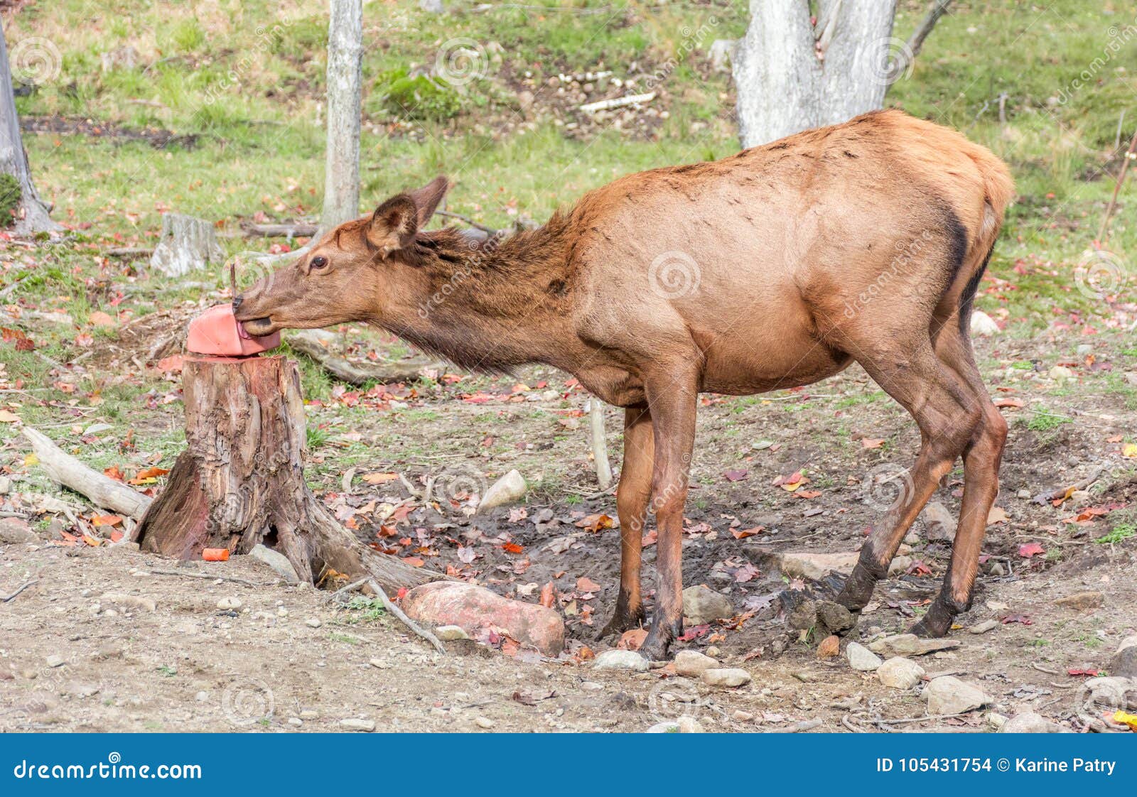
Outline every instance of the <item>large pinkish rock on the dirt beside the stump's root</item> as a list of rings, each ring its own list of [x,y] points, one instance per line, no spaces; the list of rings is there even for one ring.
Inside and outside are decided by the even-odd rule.
[[[472,637],[493,626],[546,656],[558,655],[565,646],[565,623],[557,612],[460,581],[415,587],[404,596],[402,611],[431,625],[460,625]]]

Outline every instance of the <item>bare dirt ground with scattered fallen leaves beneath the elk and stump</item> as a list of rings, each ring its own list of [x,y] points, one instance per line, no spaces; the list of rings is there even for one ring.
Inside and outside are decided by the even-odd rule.
[[[777,400],[706,397],[700,409],[684,584],[722,591],[738,615],[689,630],[675,649],[709,650],[753,681],[723,690],[673,666],[592,669],[590,651],[615,644],[594,639],[619,583],[619,532],[603,528],[615,501],[611,490],[597,495],[587,417],[566,398],[566,377],[531,370],[472,393],[392,389],[387,412],[351,400],[310,407],[309,425],[331,439],[314,451],[309,481],[377,548],[522,600],[538,600],[551,582],[568,636],[559,659],[473,642],[439,655],[362,600],[333,606],[326,592],[283,586],[248,557],[179,566],[130,543],[59,547],[44,530],[38,543],[0,547],[0,593],[34,580],[0,604],[0,728],[330,731],[355,719],[379,731],[641,731],[688,715],[707,731],[779,731],[810,720],[821,721],[816,731],[985,731],[993,715],[1034,711],[1085,730],[1078,699],[1087,671],[1104,672],[1137,630],[1137,540],[1097,541],[1131,518],[1137,478],[1121,440],[1137,412],[1098,379],[1111,359],[1106,371],[1124,370],[1105,356],[1124,346],[1123,333],[1095,339],[1096,358],[1070,359],[1071,376],[1051,370],[1044,351],[1072,357],[1079,343],[978,343],[993,395],[1023,405],[1004,409],[1011,438],[996,503],[1004,514],[990,518],[974,606],[951,637],[958,647],[919,661],[929,678],[952,673],[980,686],[993,698],[985,709],[921,720],[922,687],[888,689],[844,656],[819,658],[819,639],[786,629],[778,593],[810,584],[783,578],[779,555],[856,550],[880,515],[873,475],[906,467],[919,446],[911,420],[856,368]],[[614,413],[609,439],[619,463]],[[345,479],[338,445],[365,448],[354,479]],[[511,468],[530,483],[525,503],[471,517],[471,496]],[[797,492],[771,483],[795,472],[810,480]],[[433,476],[441,499],[424,505],[399,480],[364,479],[384,473],[416,490]],[[1061,506],[1032,499],[1092,474],[1088,490]],[[953,514],[960,476],[933,499]],[[401,510],[380,520],[384,506]],[[906,630],[935,596],[949,547],[926,531],[918,522],[903,551],[907,567],[878,586],[850,639]],[[1087,591],[1102,592],[1103,604],[1054,603]],[[993,629],[968,631],[987,620]]]

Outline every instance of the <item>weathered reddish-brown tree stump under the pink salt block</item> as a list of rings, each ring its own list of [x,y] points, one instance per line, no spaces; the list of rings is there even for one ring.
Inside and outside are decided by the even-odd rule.
[[[443,578],[368,549],[308,489],[296,363],[189,356],[182,384],[186,448],[134,531],[142,550],[190,559],[262,543],[309,583],[330,570],[389,590]]]

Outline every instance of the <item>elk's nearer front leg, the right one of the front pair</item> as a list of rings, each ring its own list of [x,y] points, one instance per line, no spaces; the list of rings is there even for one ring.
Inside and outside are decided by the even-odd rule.
[[[683,632],[683,504],[695,443],[698,391],[672,374],[656,390],[646,384],[652,408],[655,463],[652,508],[656,513],[656,593],[652,630],[640,646],[649,659],[667,657],[672,640]]]

